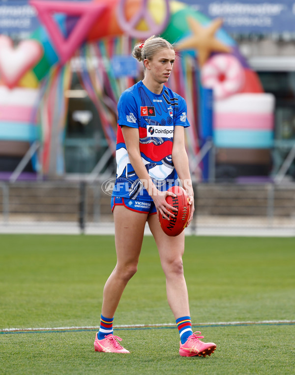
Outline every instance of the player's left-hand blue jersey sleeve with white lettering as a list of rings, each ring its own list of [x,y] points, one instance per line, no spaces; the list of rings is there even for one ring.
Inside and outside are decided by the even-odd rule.
[[[137,128],[138,125],[138,111],[136,100],[131,92],[123,92],[118,102],[118,125],[129,126]]]

